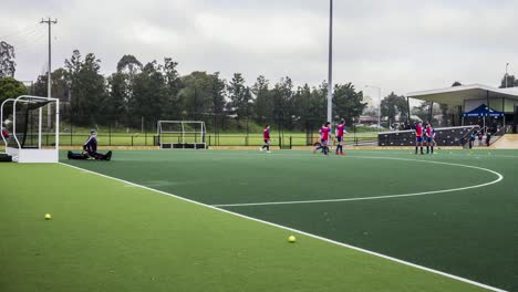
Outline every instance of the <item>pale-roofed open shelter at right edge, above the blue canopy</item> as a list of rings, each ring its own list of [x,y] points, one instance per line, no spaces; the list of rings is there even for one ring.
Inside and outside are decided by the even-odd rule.
[[[488,115],[478,115],[479,117],[489,117],[493,123],[501,126],[511,125],[514,131],[517,131],[518,87],[496,88],[483,84],[469,84],[411,92],[406,96],[419,101],[456,106],[460,118],[465,114],[486,105],[486,107],[499,114],[489,115],[488,113]],[[459,123],[464,124],[464,118]]]

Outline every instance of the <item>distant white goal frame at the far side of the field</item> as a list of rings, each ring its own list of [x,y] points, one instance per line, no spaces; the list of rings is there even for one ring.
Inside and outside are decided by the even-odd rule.
[[[173,124],[179,125],[178,129],[180,131],[167,131],[164,129],[163,125],[165,124]],[[187,124],[196,125],[195,129],[187,129],[185,126]],[[160,149],[206,149],[207,144],[205,143],[205,137],[207,133],[207,128],[205,127],[205,122],[203,121],[158,121],[157,125],[157,136],[158,136],[158,146]],[[198,131],[199,129],[199,131]],[[164,140],[164,135],[167,134],[178,134],[178,142],[166,142]],[[195,142],[189,142],[186,136],[191,135],[199,135],[199,142],[197,142],[197,137]]]

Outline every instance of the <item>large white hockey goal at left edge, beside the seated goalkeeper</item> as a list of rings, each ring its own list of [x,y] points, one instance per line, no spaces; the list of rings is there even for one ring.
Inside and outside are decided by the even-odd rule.
[[[31,148],[24,148],[20,144],[18,139],[18,132],[17,132],[17,105],[19,104],[29,104],[33,100],[39,101],[49,101],[50,103],[46,106],[55,105],[55,116],[54,116],[54,125],[55,125],[55,143],[53,147],[42,147],[42,121],[43,121],[43,108],[38,108],[38,146]],[[0,121],[3,123],[3,108],[7,107],[9,103],[12,103],[12,133],[11,136],[15,142],[18,147],[13,147],[9,145],[8,140],[2,137],[3,143],[6,144],[6,154],[12,156],[13,161],[18,163],[58,163],[59,161],[59,150],[60,150],[60,100],[52,98],[52,97],[41,97],[41,96],[32,96],[32,95],[22,95],[17,98],[8,98],[3,101],[0,107]]]

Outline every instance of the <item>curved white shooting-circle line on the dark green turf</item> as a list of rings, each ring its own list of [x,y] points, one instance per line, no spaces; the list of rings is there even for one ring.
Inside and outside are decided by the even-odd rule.
[[[481,188],[481,187],[486,187],[486,186],[490,186],[490,185],[500,182],[504,179],[504,176],[498,174],[495,170],[483,168],[483,167],[477,167],[477,166],[470,166],[470,165],[450,164],[450,163],[442,163],[442,161],[429,161],[429,160],[417,160],[417,159],[407,159],[407,158],[397,158],[397,157],[351,156],[350,158],[388,159],[388,160],[418,161],[418,163],[427,163],[427,164],[457,166],[457,167],[473,168],[473,169],[487,171],[487,173],[496,175],[497,179],[495,179],[493,181],[489,181],[489,182],[476,185],[476,186],[468,186],[468,187],[462,187],[462,188],[452,188],[452,189],[442,189],[442,190],[421,191],[421,192],[411,192],[411,194],[400,194],[400,195],[386,195],[386,196],[375,196],[375,197],[359,197],[359,198],[346,198],[346,199],[221,204],[221,205],[213,205],[213,206],[218,207],[218,208],[222,208],[222,207],[250,207],[250,206],[270,206],[270,205],[296,205],[296,204],[318,204],[318,202],[340,202],[340,201],[393,199],[393,198],[416,197],[416,196],[425,196],[425,195],[433,195],[433,194],[441,194],[441,192],[453,192],[453,191],[459,191],[459,190],[466,190],[466,189]]]

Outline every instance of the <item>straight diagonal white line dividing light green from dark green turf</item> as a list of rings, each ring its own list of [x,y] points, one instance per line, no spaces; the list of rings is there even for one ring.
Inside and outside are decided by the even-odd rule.
[[[297,232],[299,234],[303,234],[303,236],[307,236],[307,237],[310,237],[310,238],[322,240],[322,241],[325,241],[325,242],[329,242],[329,243],[332,243],[332,244],[335,244],[335,246],[349,248],[349,249],[352,249],[352,250],[355,250],[355,251],[359,251],[359,252],[367,253],[367,254],[379,257],[379,258],[382,258],[382,259],[385,259],[385,260],[388,260],[388,261],[393,261],[393,262],[397,262],[397,263],[401,263],[401,264],[404,264],[404,265],[408,265],[408,267],[412,267],[412,268],[415,268],[415,269],[418,269],[418,270],[423,270],[423,271],[426,271],[426,272],[439,274],[439,275],[443,275],[443,277],[446,277],[446,278],[449,278],[449,279],[454,279],[454,280],[457,280],[457,281],[460,281],[460,282],[464,282],[464,283],[468,283],[468,284],[476,285],[476,286],[484,288],[484,289],[491,290],[491,291],[508,292],[506,290],[501,290],[501,289],[498,289],[498,288],[495,288],[495,286],[486,285],[486,284],[479,283],[479,282],[473,281],[473,280],[468,280],[466,278],[462,278],[462,277],[458,277],[458,275],[454,275],[454,274],[449,274],[449,273],[446,273],[446,272],[437,271],[437,270],[434,270],[434,269],[431,269],[431,268],[426,268],[424,265],[418,265],[418,264],[407,262],[407,261],[404,261],[404,260],[400,260],[400,259],[396,259],[396,258],[392,258],[392,257],[388,257],[388,255],[385,255],[385,254],[382,254],[382,253],[377,253],[377,252],[370,251],[370,250],[366,250],[366,249],[358,248],[358,247],[350,246],[350,244],[339,242],[339,241],[334,241],[334,240],[331,240],[331,239],[328,239],[328,238],[319,237],[319,236],[315,236],[315,234],[312,234],[312,233],[309,233],[309,232],[304,232],[302,230],[298,230],[298,229],[294,229],[294,228],[277,225],[277,223],[265,221],[265,220],[257,219],[257,218],[253,218],[253,217],[248,217],[246,215],[241,215],[241,213],[232,212],[232,211],[225,210],[225,209],[221,209],[221,208],[217,208],[217,207],[206,205],[206,204],[203,204],[203,202],[199,202],[199,201],[195,201],[195,200],[190,200],[190,199],[187,199],[187,198],[184,198],[184,197],[179,197],[179,196],[176,196],[176,195],[173,195],[173,194],[169,194],[169,192],[153,189],[153,188],[142,186],[142,185],[137,185],[137,184],[134,184],[134,182],[131,182],[131,181],[127,181],[127,180],[124,180],[124,179],[121,179],[121,178],[106,176],[106,175],[103,175],[103,174],[99,174],[99,173],[95,173],[95,171],[91,171],[91,170],[83,169],[81,167],[76,167],[76,166],[73,166],[73,165],[68,165],[68,164],[64,164],[64,163],[60,163],[60,164],[64,165],[64,166],[68,166],[68,167],[71,167],[71,168],[74,168],[74,169],[87,171],[87,173],[90,173],[92,175],[96,175],[96,176],[100,176],[100,177],[113,179],[113,180],[121,181],[121,182],[124,182],[124,184],[127,184],[127,185],[133,185],[133,186],[142,188],[142,189],[154,191],[154,192],[157,192],[157,194],[160,194],[160,195],[165,195],[165,196],[178,199],[178,200],[187,201],[187,202],[190,202],[190,204],[194,204],[194,205],[197,205],[197,206],[201,206],[201,207],[205,207],[205,208],[208,208],[208,209],[213,209],[213,210],[216,210],[216,211],[228,213],[228,215],[231,215],[231,216],[235,216],[235,217],[239,217],[239,218],[244,218],[244,219],[251,220],[251,221],[255,221],[255,222],[263,223],[263,225],[267,225],[267,226],[280,228],[280,229],[283,229],[283,230],[287,230],[287,231]]]

